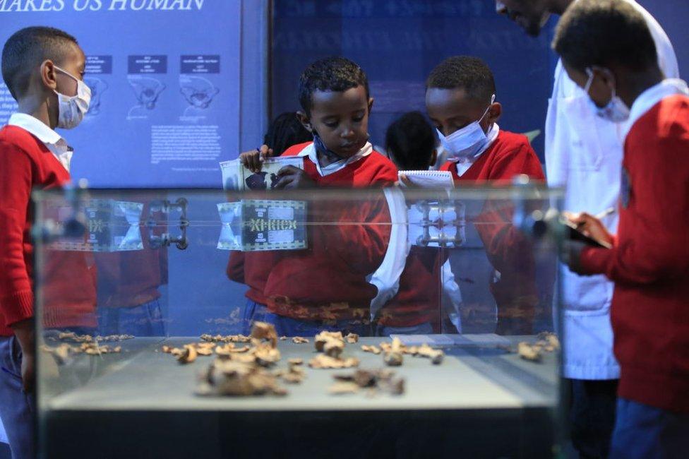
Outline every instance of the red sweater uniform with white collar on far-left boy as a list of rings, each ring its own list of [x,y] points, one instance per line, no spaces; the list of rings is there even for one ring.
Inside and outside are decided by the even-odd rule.
[[[27,114],[0,129],[0,416],[16,458],[32,458],[35,405],[23,393],[21,350],[10,326],[33,316],[30,194],[70,180],[73,150],[58,133]],[[44,265],[44,327],[95,327],[95,270],[68,252]]]

